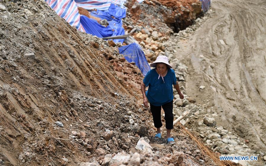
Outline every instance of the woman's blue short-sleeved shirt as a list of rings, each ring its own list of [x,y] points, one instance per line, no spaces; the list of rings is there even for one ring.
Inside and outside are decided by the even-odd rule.
[[[173,100],[173,85],[176,85],[176,74],[173,69],[168,69],[165,77],[158,79],[156,68],[150,70],[143,83],[149,86],[146,91],[148,101],[154,106],[161,106]],[[163,83],[163,80],[165,83]]]

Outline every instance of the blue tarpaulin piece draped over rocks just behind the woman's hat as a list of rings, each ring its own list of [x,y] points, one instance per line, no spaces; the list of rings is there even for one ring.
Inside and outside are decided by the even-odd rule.
[[[130,62],[135,62],[136,66],[141,70],[145,76],[150,71],[150,65],[142,51],[141,47],[137,43],[119,47],[119,54],[124,55],[125,59]]]

